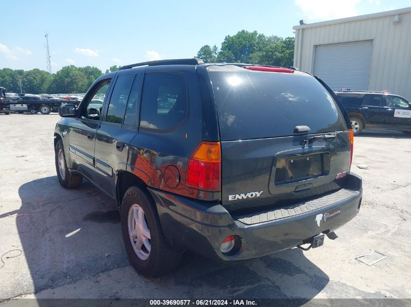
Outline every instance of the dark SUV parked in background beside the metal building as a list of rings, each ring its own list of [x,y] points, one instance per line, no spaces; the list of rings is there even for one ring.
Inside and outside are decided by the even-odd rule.
[[[411,104],[386,91],[341,91],[335,93],[350,116],[354,135],[364,128],[394,129],[411,135]]]

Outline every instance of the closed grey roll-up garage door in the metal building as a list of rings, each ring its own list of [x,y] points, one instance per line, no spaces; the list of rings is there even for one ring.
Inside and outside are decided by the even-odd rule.
[[[316,46],[314,75],[333,90],[368,90],[373,41]]]

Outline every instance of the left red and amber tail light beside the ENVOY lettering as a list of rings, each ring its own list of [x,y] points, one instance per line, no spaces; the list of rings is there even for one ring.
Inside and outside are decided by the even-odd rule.
[[[221,190],[220,142],[201,142],[188,159],[187,166],[187,186],[210,192]]]

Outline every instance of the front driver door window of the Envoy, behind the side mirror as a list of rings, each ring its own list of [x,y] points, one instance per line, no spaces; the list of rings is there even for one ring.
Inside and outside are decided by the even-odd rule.
[[[85,98],[85,105],[81,113],[81,118],[101,120],[101,113],[104,99],[107,95],[110,79],[96,84]]]

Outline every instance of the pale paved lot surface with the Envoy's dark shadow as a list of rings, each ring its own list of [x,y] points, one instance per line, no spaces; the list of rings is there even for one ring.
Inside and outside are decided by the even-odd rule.
[[[364,195],[358,216],[336,231],[339,239],[228,264],[186,253],[174,274],[146,279],[128,264],[114,201],[86,180],[75,190],[58,184],[58,119],[0,115],[0,255],[10,251],[0,261],[0,301],[411,298],[411,137],[365,130],[355,138],[352,171],[362,176]],[[372,266],[355,259],[373,249],[388,258]]]

